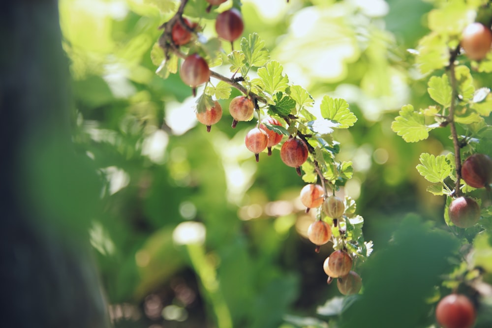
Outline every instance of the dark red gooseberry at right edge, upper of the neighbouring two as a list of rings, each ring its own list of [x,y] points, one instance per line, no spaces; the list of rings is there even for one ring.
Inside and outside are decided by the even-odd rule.
[[[473,188],[492,183],[492,159],[484,154],[473,154],[461,165],[461,178]]]

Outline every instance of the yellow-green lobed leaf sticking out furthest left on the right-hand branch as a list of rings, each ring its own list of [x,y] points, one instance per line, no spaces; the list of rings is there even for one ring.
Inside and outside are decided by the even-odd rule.
[[[395,131],[406,142],[417,142],[427,139],[429,131],[433,127],[425,124],[425,115],[413,110],[412,105],[401,107],[400,116],[391,124],[391,129]]]

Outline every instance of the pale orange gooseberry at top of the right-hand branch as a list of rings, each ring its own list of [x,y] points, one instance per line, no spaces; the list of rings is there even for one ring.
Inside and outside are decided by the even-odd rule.
[[[471,23],[461,33],[461,47],[471,60],[484,59],[491,45],[492,31],[481,23]]]

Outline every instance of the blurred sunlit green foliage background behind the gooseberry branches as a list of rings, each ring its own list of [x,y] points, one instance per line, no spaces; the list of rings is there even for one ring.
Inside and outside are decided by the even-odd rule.
[[[204,2],[190,1],[185,14],[202,14]],[[72,165],[72,175],[61,170],[60,179],[94,181],[95,190],[81,191],[80,199],[101,207],[60,210],[93,215],[91,242],[114,325],[327,327],[323,311],[314,318],[316,307],[340,294],[322,270],[330,249],[315,254],[305,238],[312,217],[298,200],[302,179],[275,148],[255,163],[244,147],[253,122],[233,130],[224,110],[207,133],[196,124],[195,99],[179,76],[155,74],[158,27],[176,9],[169,0],[60,0],[75,100],[73,140],[78,160],[96,172],[79,176]],[[366,327],[431,325],[424,298],[448,272],[445,259],[456,248],[445,233],[432,231],[445,226],[444,199],[428,196],[415,169],[421,153],[450,150],[448,136],[433,131],[425,142],[407,144],[390,127],[401,106],[431,103],[406,51],[429,31],[430,9],[429,1],[243,1],[244,35],[258,33],[271,58],[316,103],[326,94],[344,98],[358,118],[336,132],[338,158],[355,170],[342,192],[357,199],[375,253],[362,271],[368,296],[337,302],[333,325],[339,318],[351,318],[340,327],[364,327],[361,320],[370,318],[388,318],[388,324]],[[204,35],[213,37],[213,16],[202,16]],[[230,45],[223,46],[228,52]],[[238,94],[232,90],[229,99]],[[228,99],[219,102],[228,108]],[[401,223],[409,212],[431,223]],[[482,255],[491,244],[485,237],[476,243],[485,248]],[[402,295],[411,316],[393,302]],[[383,301],[392,310],[380,313]],[[402,325],[397,314],[411,320]]]

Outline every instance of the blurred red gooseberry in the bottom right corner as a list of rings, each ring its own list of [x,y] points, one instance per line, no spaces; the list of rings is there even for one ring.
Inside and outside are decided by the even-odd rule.
[[[444,328],[470,328],[475,317],[473,303],[461,294],[450,294],[442,298],[435,308],[435,318]]]

